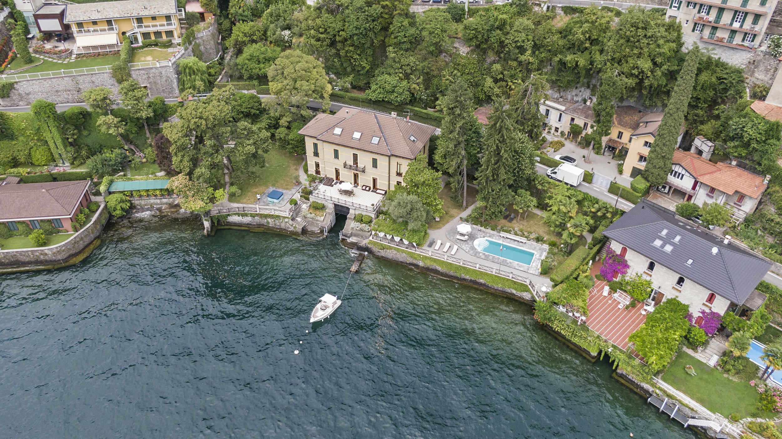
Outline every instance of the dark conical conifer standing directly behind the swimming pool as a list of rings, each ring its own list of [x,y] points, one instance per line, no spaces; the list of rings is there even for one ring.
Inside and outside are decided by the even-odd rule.
[[[500,219],[505,207],[513,201],[510,185],[514,180],[511,154],[519,140],[518,125],[513,122],[514,109],[505,102],[493,105],[487,118],[489,126],[483,137],[481,169],[475,175],[478,201],[484,205],[485,219]]]

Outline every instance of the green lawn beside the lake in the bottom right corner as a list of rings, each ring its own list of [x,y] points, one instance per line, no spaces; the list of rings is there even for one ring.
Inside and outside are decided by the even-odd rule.
[[[692,377],[684,366],[693,366],[696,376]],[[690,398],[712,412],[728,417],[738,413],[742,418],[767,417],[758,413],[758,391],[746,382],[738,382],[725,377],[722,372],[709,367],[705,362],[694,358],[687,352],[680,352],[671,362],[662,380],[687,394]]]

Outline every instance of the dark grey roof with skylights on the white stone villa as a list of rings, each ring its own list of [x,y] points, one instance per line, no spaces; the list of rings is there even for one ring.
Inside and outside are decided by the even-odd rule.
[[[665,237],[660,234],[664,229],[668,230]],[[722,238],[645,198],[603,234],[739,305],[771,268],[771,262],[759,255],[723,244]],[[674,242],[677,235],[680,239]],[[662,245],[655,246],[655,240]],[[665,244],[673,246],[670,252],[663,249]],[[712,254],[715,247],[716,255]]]

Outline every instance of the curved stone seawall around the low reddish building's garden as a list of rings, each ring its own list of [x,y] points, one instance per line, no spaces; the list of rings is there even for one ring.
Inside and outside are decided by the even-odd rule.
[[[0,273],[34,271],[74,265],[89,255],[100,242],[98,237],[106,226],[109,212],[102,204],[91,222],[65,242],[45,248],[0,250]]]

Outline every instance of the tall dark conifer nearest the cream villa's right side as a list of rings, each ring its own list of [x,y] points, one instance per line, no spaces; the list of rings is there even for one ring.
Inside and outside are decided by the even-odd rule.
[[[474,98],[464,80],[456,80],[443,98],[443,125],[437,141],[435,162],[440,170],[450,174],[450,188],[467,209],[468,130],[474,125],[471,119]]]

